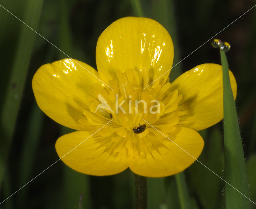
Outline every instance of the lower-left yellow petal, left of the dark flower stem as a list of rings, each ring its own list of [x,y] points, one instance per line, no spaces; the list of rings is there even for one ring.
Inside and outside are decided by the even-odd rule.
[[[77,131],[58,138],[55,148],[61,160],[78,172],[112,175],[128,168],[129,158],[120,141],[111,138]]]

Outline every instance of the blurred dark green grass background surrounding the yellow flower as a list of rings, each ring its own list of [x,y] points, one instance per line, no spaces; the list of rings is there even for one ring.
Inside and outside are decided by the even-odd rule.
[[[253,6],[249,0],[196,0],[186,3],[175,0],[141,0],[141,3],[144,16],[160,22],[172,36],[174,65]],[[70,57],[84,61],[95,68],[96,41],[100,33],[118,18],[134,16],[130,0],[44,0],[42,8],[40,5],[28,7],[33,4],[33,0],[0,0],[0,4]],[[35,24],[36,16],[39,18],[38,24]],[[10,109],[14,117],[7,115],[5,120],[1,121],[0,170],[5,168],[0,190],[1,202],[59,159],[54,146],[56,139],[72,130],[63,129],[39,110],[31,87],[32,76],[41,65],[65,58],[66,55],[26,28],[1,7],[0,26],[1,118],[8,89],[12,87],[15,66],[19,66],[18,73],[23,75],[19,79],[20,86],[15,87],[20,92],[21,104],[15,104],[15,109]],[[24,31],[31,37],[24,35]],[[250,198],[254,201],[256,201],[255,34],[256,9],[254,8],[217,36],[231,44],[227,57],[238,84],[236,105],[247,163]],[[32,41],[33,35],[35,41]],[[30,37],[31,49],[24,44],[26,42],[21,41],[22,37]],[[219,54],[211,47],[210,42],[176,65],[172,69],[171,80],[182,71],[201,63],[220,63]],[[23,85],[24,91],[22,91]],[[10,123],[15,126],[13,125],[13,130],[9,131],[6,137],[5,127]],[[205,147],[198,160],[224,177],[221,126],[222,122],[200,132],[205,140]],[[9,142],[11,142],[10,148],[6,146]],[[3,154],[8,158],[2,158]],[[224,182],[216,175],[195,162],[184,171],[184,177],[189,195],[187,201],[191,208],[224,207]],[[149,209],[181,207],[174,176],[148,179],[148,189]],[[6,209],[130,209],[133,207],[134,177],[130,170],[106,177],[87,176],[70,170],[61,161],[0,205],[0,208]],[[256,208],[253,204],[252,207]]]

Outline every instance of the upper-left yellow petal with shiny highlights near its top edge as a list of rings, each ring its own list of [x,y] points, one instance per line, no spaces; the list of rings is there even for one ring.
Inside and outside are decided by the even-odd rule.
[[[93,75],[92,75],[93,74]],[[62,59],[42,65],[32,80],[32,88],[40,109],[56,122],[69,128],[83,130],[78,122],[86,119],[84,108],[99,83],[98,72],[89,65],[74,59]]]

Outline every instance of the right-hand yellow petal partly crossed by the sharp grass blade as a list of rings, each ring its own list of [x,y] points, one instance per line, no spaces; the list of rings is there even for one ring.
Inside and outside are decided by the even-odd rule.
[[[236,98],[236,79],[229,71],[234,98]],[[194,130],[208,128],[223,118],[222,66],[202,64],[183,73],[171,84],[171,91],[178,89],[183,98],[178,109],[181,110],[180,124]]]

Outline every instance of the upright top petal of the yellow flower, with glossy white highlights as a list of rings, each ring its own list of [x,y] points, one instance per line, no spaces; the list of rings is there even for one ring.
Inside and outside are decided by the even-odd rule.
[[[144,87],[172,67],[173,56],[170,35],[149,18],[117,20],[100,35],[96,47],[98,72],[105,82],[117,77],[116,71],[136,70]],[[169,73],[157,82],[164,83]]]

